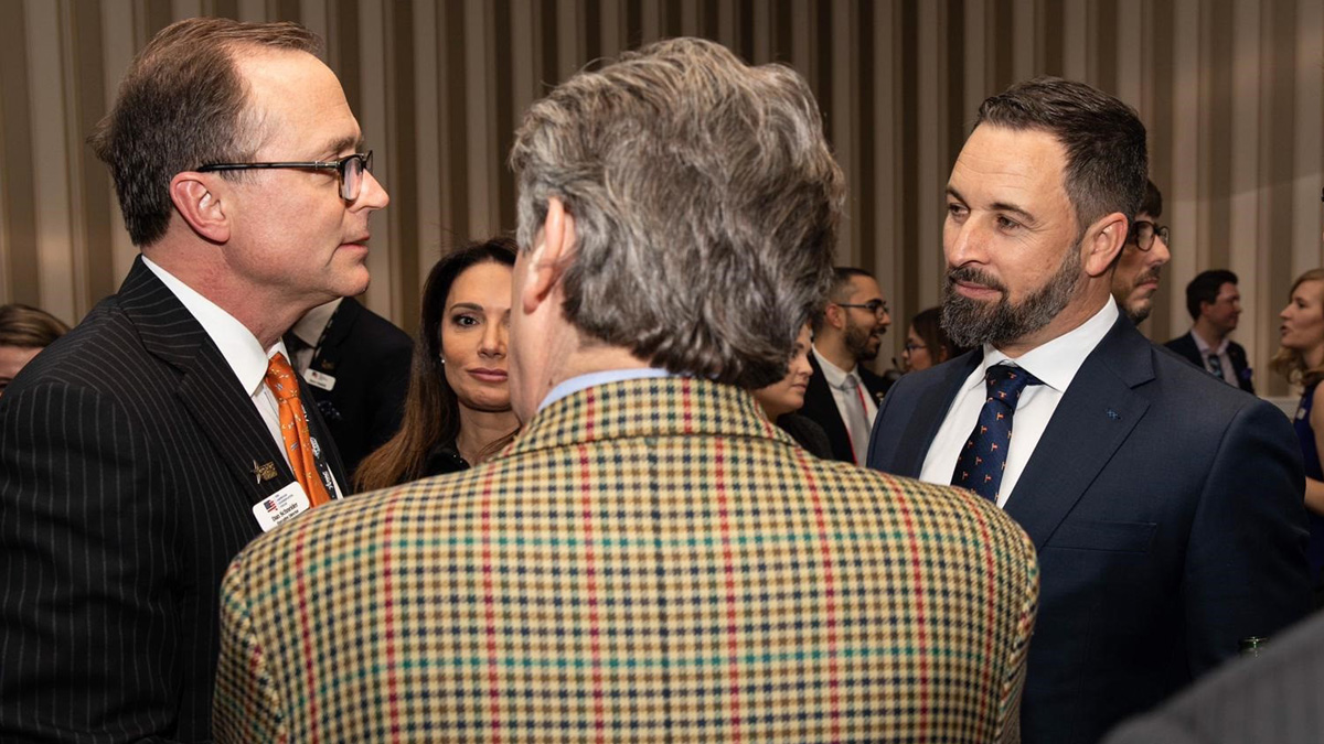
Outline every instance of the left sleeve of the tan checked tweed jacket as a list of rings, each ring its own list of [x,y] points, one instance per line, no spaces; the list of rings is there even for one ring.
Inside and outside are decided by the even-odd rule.
[[[254,630],[248,597],[248,553],[230,564],[221,582],[221,657],[212,706],[217,744],[287,741],[267,658]]]

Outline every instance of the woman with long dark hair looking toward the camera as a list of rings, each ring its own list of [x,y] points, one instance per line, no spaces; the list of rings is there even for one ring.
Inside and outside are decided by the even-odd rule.
[[[469,244],[432,267],[422,291],[404,420],[355,474],[360,491],[454,473],[519,429],[510,408],[506,336],[515,241]]]

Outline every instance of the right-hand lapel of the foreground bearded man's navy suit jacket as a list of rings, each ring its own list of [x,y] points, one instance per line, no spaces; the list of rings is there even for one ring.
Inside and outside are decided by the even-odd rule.
[[[1037,548],[1149,409],[1133,388],[1153,379],[1152,353],[1121,316],[1071,380],[1005,507]]]

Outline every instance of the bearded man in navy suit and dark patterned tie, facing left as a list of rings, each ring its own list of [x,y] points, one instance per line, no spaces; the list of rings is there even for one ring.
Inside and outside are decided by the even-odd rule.
[[[977,348],[902,377],[874,429],[870,466],[967,485],[1034,540],[1031,744],[1096,741],[1309,605],[1287,418],[1111,295],[1145,171],[1144,126],[1090,86],[985,101],[943,230],[943,324]]]

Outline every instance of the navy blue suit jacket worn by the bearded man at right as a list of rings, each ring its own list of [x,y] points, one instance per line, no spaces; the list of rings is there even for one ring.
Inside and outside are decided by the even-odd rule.
[[[906,375],[869,465],[918,477],[976,349]],[[1124,316],[1090,353],[1006,503],[1042,569],[1022,737],[1098,741],[1309,610],[1304,475],[1272,405]]]

